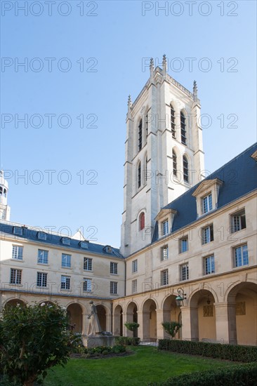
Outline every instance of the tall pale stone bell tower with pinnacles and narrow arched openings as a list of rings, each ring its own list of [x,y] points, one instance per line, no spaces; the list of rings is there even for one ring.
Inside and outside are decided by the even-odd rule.
[[[191,93],[150,60],[150,78],[126,115],[121,253],[150,244],[162,207],[202,180],[204,152],[197,84]]]

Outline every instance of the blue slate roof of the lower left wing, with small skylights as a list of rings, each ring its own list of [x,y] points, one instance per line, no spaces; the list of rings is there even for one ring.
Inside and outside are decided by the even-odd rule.
[[[81,241],[75,240],[75,239],[70,239],[70,238],[68,238],[68,239],[70,239],[70,245],[62,244],[62,239],[66,238],[65,236],[59,236],[57,234],[44,232],[43,229],[41,232],[44,232],[47,234],[46,240],[42,240],[42,239],[38,238],[38,233],[39,233],[38,230],[29,229],[28,227],[22,227],[23,234],[22,234],[22,236],[20,236],[20,235],[18,236],[17,234],[13,234],[13,227],[16,227],[16,226],[18,226],[18,225],[15,223],[1,222],[0,223],[0,232],[3,232],[4,234],[12,234],[19,241],[22,241],[22,239],[27,239],[27,240],[32,240],[32,241],[38,242],[40,244],[40,246],[44,246],[44,244],[46,244],[46,246],[49,246],[49,245],[60,246],[60,247],[64,248],[65,251],[68,251],[69,249],[77,249],[79,252],[85,253],[85,254],[87,252],[90,252],[90,253],[96,253],[98,255],[105,255],[106,257],[110,257],[110,258],[124,259],[124,257],[119,253],[118,248],[111,247],[112,251],[108,252],[107,248],[106,248],[108,246],[104,246],[104,245],[100,245],[100,244],[94,244],[91,242],[88,242],[88,248],[81,248],[81,244],[80,244]],[[2,239],[3,239],[3,236],[2,236]]]

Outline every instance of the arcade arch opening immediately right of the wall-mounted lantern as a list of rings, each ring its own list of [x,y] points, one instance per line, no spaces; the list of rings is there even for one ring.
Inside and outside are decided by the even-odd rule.
[[[190,295],[190,324],[192,340],[216,341],[215,297],[207,289]]]

